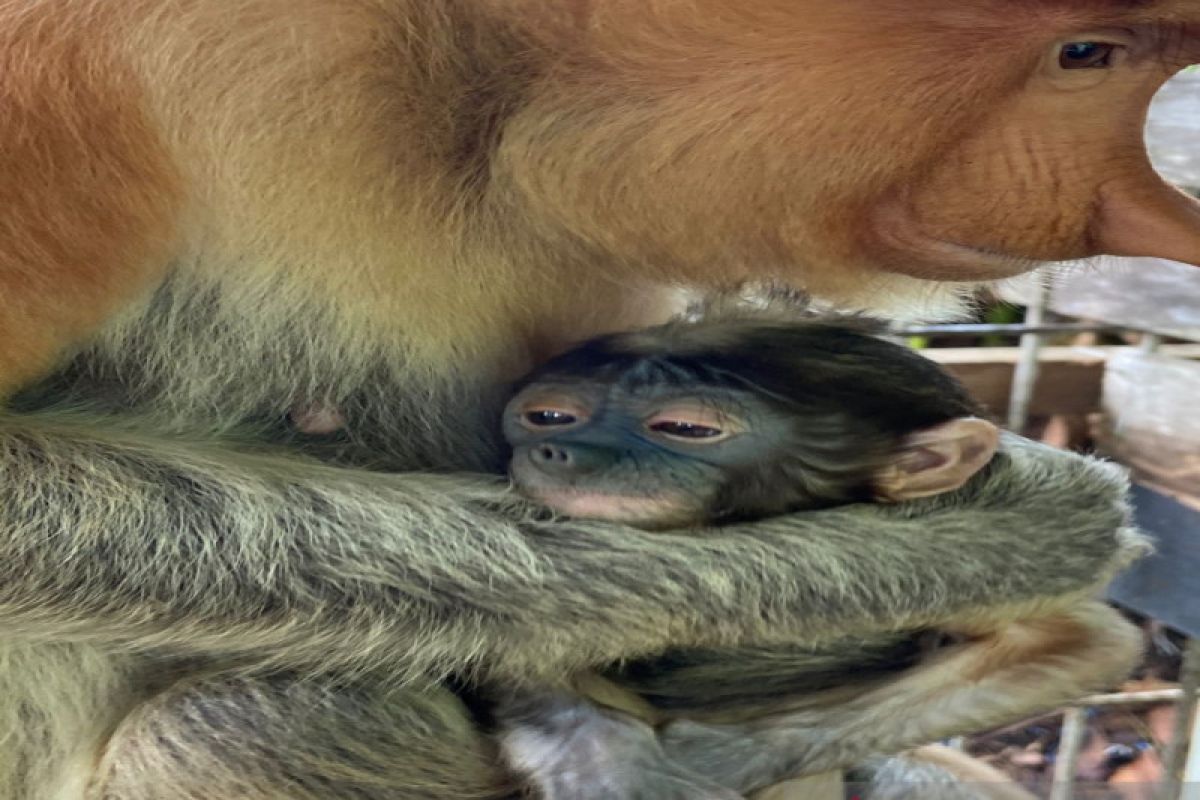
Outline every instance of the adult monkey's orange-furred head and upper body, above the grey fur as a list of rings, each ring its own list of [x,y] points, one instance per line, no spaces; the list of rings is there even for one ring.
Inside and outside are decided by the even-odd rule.
[[[955,308],[929,278],[1200,260],[1139,155],[1198,25],[1181,0],[0,2],[0,386],[170,258],[430,366],[653,321],[678,284],[929,315]],[[1056,42],[1114,26],[1134,68],[1043,85]]]

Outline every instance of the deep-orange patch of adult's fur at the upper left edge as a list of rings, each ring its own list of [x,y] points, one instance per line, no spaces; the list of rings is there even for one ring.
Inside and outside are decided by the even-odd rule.
[[[161,272],[180,201],[136,76],[103,25],[70,17],[62,4],[0,6],[0,391]]]

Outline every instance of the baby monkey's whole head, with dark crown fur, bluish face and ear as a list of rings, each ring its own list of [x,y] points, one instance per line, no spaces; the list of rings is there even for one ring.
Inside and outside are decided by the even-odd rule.
[[[511,475],[647,528],[960,486],[996,428],[932,361],[854,326],[733,318],[589,341],[509,403]]]

